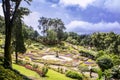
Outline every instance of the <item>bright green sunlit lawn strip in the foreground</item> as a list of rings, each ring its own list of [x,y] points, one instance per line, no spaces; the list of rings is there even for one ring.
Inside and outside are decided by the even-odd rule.
[[[58,73],[58,72],[50,70],[50,69],[46,75],[47,77],[42,78],[36,72],[26,69],[22,66],[13,64],[13,68],[18,70],[23,75],[25,75],[27,77],[37,78],[37,80],[73,80],[71,78],[66,77],[64,74]]]

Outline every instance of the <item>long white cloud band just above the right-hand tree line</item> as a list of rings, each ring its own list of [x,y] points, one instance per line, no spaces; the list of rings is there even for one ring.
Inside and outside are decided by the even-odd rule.
[[[120,23],[118,22],[104,22],[90,23],[85,21],[72,21],[66,25],[67,31],[73,31],[77,33],[93,33],[93,32],[116,32],[120,33]]]

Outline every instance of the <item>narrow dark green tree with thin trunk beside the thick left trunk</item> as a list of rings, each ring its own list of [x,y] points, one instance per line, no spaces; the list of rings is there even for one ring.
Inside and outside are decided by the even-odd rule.
[[[24,45],[23,33],[22,33],[22,16],[28,15],[30,13],[29,9],[20,7],[17,11],[17,18],[13,27],[13,37],[15,37],[14,47],[16,55],[16,63],[18,63],[18,52],[25,53],[26,48]],[[15,32],[14,32],[15,31]]]

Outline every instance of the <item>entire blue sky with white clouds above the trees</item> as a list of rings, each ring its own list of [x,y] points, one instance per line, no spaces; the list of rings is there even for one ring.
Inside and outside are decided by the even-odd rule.
[[[60,18],[66,31],[79,34],[93,32],[120,33],[120,0],[33,0],[28,7],[32,13],[25,16],[26,24],[37,29],[41,16]],[[0,3],[1,6],[1,3]],[[0,7],[0,15],[3,15]]]

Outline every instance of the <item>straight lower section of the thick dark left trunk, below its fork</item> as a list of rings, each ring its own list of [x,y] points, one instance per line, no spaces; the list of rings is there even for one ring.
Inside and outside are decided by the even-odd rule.
[[[6,23],[5,25],[5,47],[4,47],[4,67],[12,69],[12,57],[11,57],[11,25]]]

